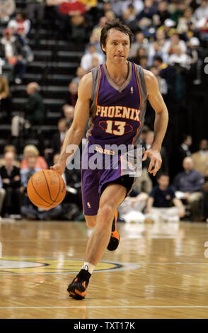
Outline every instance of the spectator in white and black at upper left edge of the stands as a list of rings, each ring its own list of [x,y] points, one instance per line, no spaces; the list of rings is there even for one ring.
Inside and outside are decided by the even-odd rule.
[[[7,28],[4,30],[4,36],[1,38],[0,44],[0,57],[8,64],[11,64],[15,82],[16,84],[21,84],[27,61],[21,43],[13,36],[11,29]]]

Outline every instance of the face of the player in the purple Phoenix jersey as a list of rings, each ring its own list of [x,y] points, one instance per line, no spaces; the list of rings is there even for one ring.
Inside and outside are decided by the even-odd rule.
[[[107,60],[115,64],[121,64],[129,56],[129,35],[120,30],[110,29],[103,50],[106,52]]]

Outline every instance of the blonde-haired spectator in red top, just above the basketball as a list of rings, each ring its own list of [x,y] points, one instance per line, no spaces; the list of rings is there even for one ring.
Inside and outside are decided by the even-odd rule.
[[[21,161],[21,170],[28,168],[28,158],[36,157],[35,168],[37,169],[47,169],[47,163],[42,156],[39,156],[39,151],[34,145],[27,145],[23,151],[24,158]]]

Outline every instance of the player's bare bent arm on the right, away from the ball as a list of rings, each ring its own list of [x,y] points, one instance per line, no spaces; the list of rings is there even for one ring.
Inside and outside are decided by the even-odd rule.
[[[163,138],[166,134],[168,126],[168,110],[158,89],[158,81],[154,74],[144,69],[144,77],[146,81],[148,99],[151,106],[154,108],[156,116],[154,121],[154,141],[151,148],[144,152],[142,160],[145,161],[146,157],[150,158],[148,171],[150,174],[155,176],[162,164],[160,152]]]

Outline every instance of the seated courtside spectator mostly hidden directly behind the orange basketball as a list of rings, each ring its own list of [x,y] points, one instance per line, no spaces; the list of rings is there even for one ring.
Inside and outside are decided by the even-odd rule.
[[[28,157],[28,167],[21,170],[21,183],[23,185],[23,205],[21,207],[21,214],[28,220],[52,220],[58,218],[62,214],[62,206],[57,205],[55,208],[37,208],[33,203],[31,203],[27,194],[28,180],[35,172],[40,171],[40,169],[35,168],[36,157]]]

